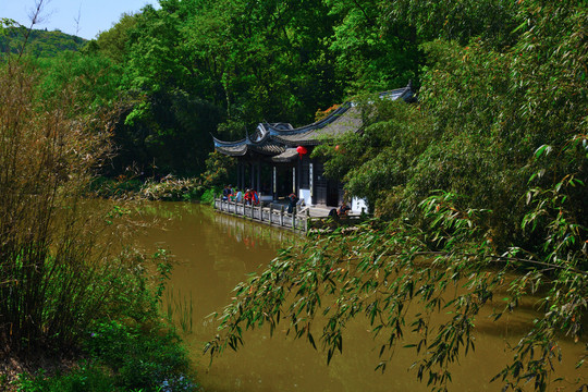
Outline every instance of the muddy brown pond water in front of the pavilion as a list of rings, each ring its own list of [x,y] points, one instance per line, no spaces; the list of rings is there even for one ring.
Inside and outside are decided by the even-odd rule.
[[[399,347],[387,370],[375,371],[379,345],[368,323],[360,319],[348,324],[343,355],[335,355],[330,365],[320,345],[315,351],[308,342],[286,336],[285,324],[271,338],[269,328],[244,332],[244,347],[237,353],[228,348],[210,363],[203,347],[216,335],[217,323],[207,316],[221,313],[231,302],[234,286],[246,280],[247,274],[260,272],[280,247],[305,238],[196,204],[148,204],[145,215],[148,219],[169,219],[164,228],[146,229],[138,237],[148,248],[163,247],[174,255],[176,266],[164,295],[166,308],[179,324],[205,391],[429,390],[426,382],[417,381],[416,371],[409,369],[415,360],[412,350]],[[529,298],[529,306],[503,317],[500,323],[479,317],[476,351],[451,369],[450,390],[501,390],[500,383],[489,380],[510,359],[509,344],[516,343],[532,322],[532,303],[534,298]],[[562,347],[564,363],[559,365],[556,376],[574,380],[579,377],[574,364],[583,346],[564,341]],[[575,390],[568,381],[558,385],[563,391]]]

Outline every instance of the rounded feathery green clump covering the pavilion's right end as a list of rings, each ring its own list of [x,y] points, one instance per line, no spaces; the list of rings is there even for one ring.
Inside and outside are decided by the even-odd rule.
[[[326,174],[345,181],[347,192],[366,198],[380,215],[390,215],[392,207],[383,210],[382,203],[397,196],[419,155],[436,140],[432,118],[418,106],[373,97],[359,107],[364,131],[321,145],[314,156],[327,159]]]

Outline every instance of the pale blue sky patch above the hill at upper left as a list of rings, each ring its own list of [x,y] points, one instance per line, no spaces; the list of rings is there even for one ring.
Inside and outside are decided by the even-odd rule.
[[[39,0],[0,0],[0,17],[30,26],[32,10]],[[117,23],[123,13],[136,13],[157,0],[42,0],[41,20],[34,28],[60,29],[82,38],[96,38]],[[79,22],[77,23],[76,20]]]

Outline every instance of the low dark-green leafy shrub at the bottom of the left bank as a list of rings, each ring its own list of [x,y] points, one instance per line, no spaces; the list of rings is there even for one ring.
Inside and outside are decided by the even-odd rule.
[[[21,375],[22,392],[194,391],[177,336],[163,326],[130,327],[97,321],[85,338],[88,359],[66,372]]]

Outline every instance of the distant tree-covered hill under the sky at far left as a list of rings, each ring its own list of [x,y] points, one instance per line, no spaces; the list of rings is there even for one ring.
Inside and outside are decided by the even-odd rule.
[[[26,34],[25,27],[4,28],[0,34],[0,52],[17,53]],[[60,30],[33,29],[26,44],[25,52],[34,57],[54,57],[64,50],[79,50],[86,40]]]

